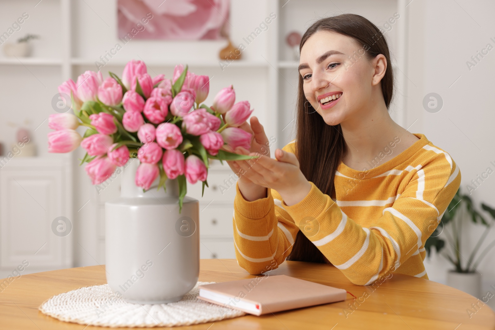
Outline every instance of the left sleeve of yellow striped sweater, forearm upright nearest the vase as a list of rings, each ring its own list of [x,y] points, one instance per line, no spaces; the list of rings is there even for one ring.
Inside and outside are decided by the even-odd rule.
[[[290,144],[282,149],[293,152]],[[284,262],[299,231],[275,189],[267,189],[264,198],[247,201],[238,183],[233,227],[237,261],[252,275],[276,269]]]

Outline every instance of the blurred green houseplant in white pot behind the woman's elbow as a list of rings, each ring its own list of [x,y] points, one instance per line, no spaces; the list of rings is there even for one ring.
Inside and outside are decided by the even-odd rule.
[[[439,226],[425,242],[425,250],[428,257],[430,256],[433,247],[435,247],[438,253],[444,250],[444,253],[440,254],[454,266],[454,269],[449,270],[447,273],[447,285],[467,292],[475,297],[480,297],[481,293],[481,274],[477,270],[478,266],[488,252],[495,246],[494,239],[480,251],[483,242],[492,229],[492,226],[495,224],[495,221],[493,221],[495,220],[495,209],[484,203],[481,203],[481,208],[492,216],[492,221],[486,221],[483,215],[474,208],[471,198],[468,195],[461,194],[459,188],[448,205]],[[483,234],[478,238],[476,245],[466,260],[460,252],[461,234],[463,232],[462,225],[469,220],[474,224],[482,225],[486,228]],[[445,240],[441,237],[444,237]],[[445,241],[448,243],[448,248],[446,247]]]

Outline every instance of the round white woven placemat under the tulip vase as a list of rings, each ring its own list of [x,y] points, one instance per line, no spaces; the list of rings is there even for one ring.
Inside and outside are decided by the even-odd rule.
[[[175,327],[220,321],[246,313],[198,299],[198,282],[182,300],[167,304],[141,305],[118,297],[108,284],[81,287],[57,294],[39,310],[55,319],[102,327]]]

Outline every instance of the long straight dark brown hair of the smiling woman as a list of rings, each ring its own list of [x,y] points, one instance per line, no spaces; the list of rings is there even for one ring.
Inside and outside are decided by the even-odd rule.
[[[356,14],[326,17],[316,21],[306,30],[299,44],[299,50],[308,38],[318,31],[333,31],[353,38],[359,47],[363,47],[365,52],[363,58],[373,59],[378,54],[385,56],[388,66],[381,80],[381,87],[388,109],[394,93],[394,76],[390,65],[389,46],[381,30],[368,19]],[[306,100],[302,83],[302,77],[299,75],[296,156],[306,179],[323,193],[333,196],[335,172],[346,152],[342,128],[340,124],[332,126],[325,123],[321,115]],[[307,224],[302,221],[301,226],[304,225]],[[313,221],[309,225],[316,227],[317,224]],[[325,263],[325,259],[321,251],[302,230],[299,230],[287,260]]]

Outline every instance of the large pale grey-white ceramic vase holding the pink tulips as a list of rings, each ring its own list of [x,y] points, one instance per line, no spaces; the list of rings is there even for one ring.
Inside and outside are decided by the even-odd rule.
[[[198,282],[199,202],[185,196],[179,214],[177,179],[167,192],[156,190],[158,179],[143,192],[134,183],[139,163],[129,160],[120,197],[105,203],[106,280],[128,302],[179,301]]]

